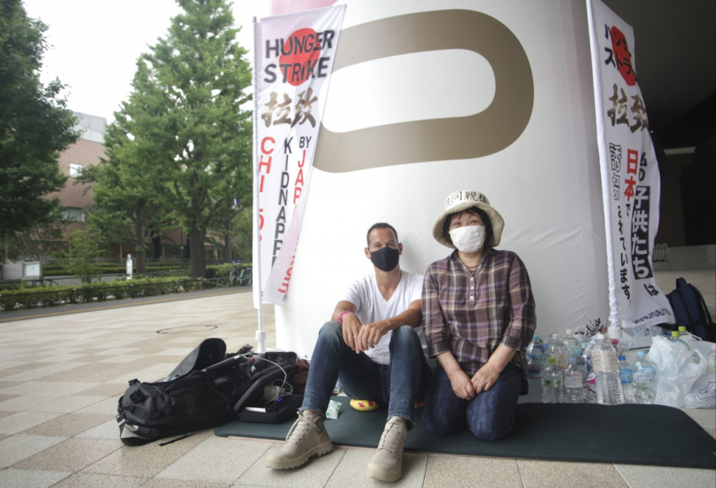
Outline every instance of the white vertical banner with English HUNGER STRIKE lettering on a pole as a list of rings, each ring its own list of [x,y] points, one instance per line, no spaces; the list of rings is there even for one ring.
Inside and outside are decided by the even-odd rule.
[[[266,17],[255,24],[254,306],[283,305],[345,6]],[[258,215],[256,215],[258,213]],[[256,228],[258,227],[258,229]],[[260,252],[259,252],[260,251]],[[260,262],[259,262],[260,261]],[[259,273],[257,273],[259,275]],[[260,288],[259,288],[260,287]]]

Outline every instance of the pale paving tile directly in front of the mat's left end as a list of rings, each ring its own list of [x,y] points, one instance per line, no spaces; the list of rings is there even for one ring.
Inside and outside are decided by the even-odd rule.
[[[231,484],[263,456],[270,446],[264,442],[239,441],[212,435],[156,477]]]

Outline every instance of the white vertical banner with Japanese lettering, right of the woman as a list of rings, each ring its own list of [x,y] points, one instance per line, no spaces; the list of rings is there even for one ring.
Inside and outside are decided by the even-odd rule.
[[[634,32],[600,0],[586,1],[609,265],[609,321],[623,327],[674,323],[652,267],[659,228],[659,166],[639,89]]]

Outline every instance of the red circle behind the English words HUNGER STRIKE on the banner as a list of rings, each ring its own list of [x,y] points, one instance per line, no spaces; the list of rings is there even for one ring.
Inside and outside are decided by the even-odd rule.
[[[279,66],[284,79],[294,87],[298,87],[316,72],[322,48],[321,41],[314,29],[299,29],[284,41]]]

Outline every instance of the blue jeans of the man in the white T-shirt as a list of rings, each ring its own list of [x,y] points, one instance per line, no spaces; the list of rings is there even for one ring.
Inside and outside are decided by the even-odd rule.
[[[420,338],[410,326],[400,326],[390,336],[390,363],[377,364],[366,353],[357,354],[343,340],[343,326],[326,322],[319,332],[304,403],[300,410],[325,415],[337,381],[354,399],[377,401],[388,406],[388,417],[399,416],[412,428],[412,410],[430,381],[430,366],[422,353]]]

